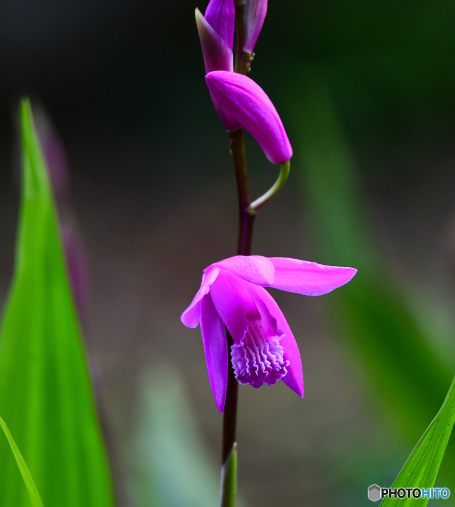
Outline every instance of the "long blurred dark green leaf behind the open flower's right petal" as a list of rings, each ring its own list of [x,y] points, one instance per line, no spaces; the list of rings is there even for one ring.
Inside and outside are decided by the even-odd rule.
[[[413,443],[444,399],[453,354],[448,345],[441,354],[442,338],[435,339],[438,327],[422,324],[423,315],[412,308],[385,261],[324,81],[304,78],[288,116],[298,139],[296,164],[317,238],[318,262],[359,270],[348,285],[326,297],[338,319],[337,335],[349,343],[363,382],[373,389],[374,404],[382,405]],[[444,477],[455,487],[450,473],[455,453],[449,447]]]

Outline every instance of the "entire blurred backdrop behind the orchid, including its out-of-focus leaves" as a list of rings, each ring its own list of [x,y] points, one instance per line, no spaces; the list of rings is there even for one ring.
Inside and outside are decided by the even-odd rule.
[[[179,316],[203,268],[235,255],[237,205],[195,7],[206,3],[0,3],[0,302],[29,94],[66,152],[61,208],[85,258],[81,316],[122,507],[217,501],[222,418],[200,332]],[[444,400],[455,373],[454,26],[448,0],[270,2],[250,77],[294,157],[258,214],[253,253],[359,273],[321,298],[273,292],[306,394],[241,387],[244,505],[364,504]],[[278,171],[249,136],[246,149],[256,197]],[[436,485],[452,484],[452,465],[453,446]]]

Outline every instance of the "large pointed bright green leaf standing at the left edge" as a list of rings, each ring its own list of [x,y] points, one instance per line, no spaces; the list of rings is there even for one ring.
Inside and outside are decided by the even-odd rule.
[[[14,278],[0,332],[0,413],[46,507],[111,507],[109,467],[27,100],[20,120],[22,195]],[[30,505],[6,442],[0,442],[0,498],[2,507]]]

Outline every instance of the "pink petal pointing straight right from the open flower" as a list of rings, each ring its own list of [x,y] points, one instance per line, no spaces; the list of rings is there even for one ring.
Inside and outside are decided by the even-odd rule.
[[[354,268],[324,266],[286,257],[271,257],[270,261],[275,266],[275,278],[268,286],[306,296],[327,294],[348,283],[357,273]]]

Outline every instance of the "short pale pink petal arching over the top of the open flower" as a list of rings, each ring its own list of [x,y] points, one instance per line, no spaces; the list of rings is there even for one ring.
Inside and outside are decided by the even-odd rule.
[[[238,255],[215,262],[207,269],[218,266],[227,269],[244,280],[257,285],[270,285],[275,277],[275,268],[267,257],[260,255]]]

